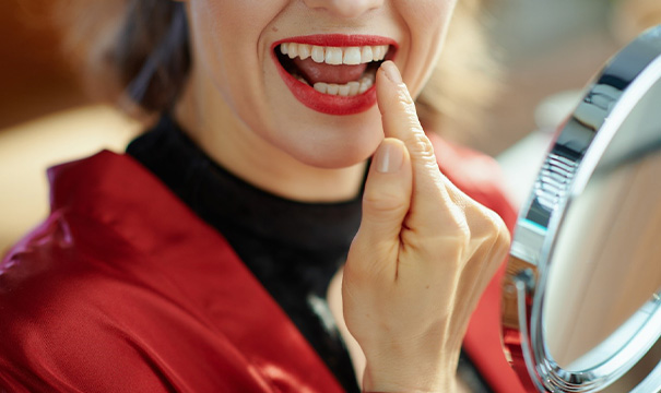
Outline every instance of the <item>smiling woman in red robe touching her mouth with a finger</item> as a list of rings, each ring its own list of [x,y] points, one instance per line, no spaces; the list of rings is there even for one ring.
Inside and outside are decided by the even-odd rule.
[[[161,120],[49,171],[52,213],[0,270],[0,386],[352,391],[353,365],[365,391],[459,389],[509,236],[448,177],[511,211],[416,116],[455,2],[130,4],[117,48],[154,39],[145,4],[167,26],[146,60],[114,55]],[[476,329],[469,357],[499,365],[477,373],[516,391]]]

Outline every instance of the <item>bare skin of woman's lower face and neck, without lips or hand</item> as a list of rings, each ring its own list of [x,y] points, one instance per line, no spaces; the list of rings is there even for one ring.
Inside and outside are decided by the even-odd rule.
[[[354,196],[383,139],[376,106],[322,115],[285,87],[271,44],[309,34],[376,34],[400,45],[417,94],[440,52],[453,0],[188,0],[193,69],[177,117],[221,165],[290,199]],[[430,17],[429,15],[434,15]]]

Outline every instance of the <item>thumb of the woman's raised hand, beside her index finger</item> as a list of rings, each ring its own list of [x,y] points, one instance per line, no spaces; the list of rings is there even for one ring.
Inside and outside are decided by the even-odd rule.
[[[370,247],[399,243],[411,204],[411,158],[404,143],[385,139],[371,162],[363,194],[359,237]]]

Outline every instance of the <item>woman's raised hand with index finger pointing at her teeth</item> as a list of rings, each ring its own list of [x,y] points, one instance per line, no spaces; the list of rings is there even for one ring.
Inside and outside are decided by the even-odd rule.
[[[469,319],[509,233],[440,174],[394,63],[376,83],[386,139],[344,267],[344,318],[366,357],[365,391],[452,392]]]

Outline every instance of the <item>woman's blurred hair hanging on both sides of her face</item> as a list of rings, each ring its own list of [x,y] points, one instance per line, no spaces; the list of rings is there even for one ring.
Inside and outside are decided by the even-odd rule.
[[[67,1],[59,14],[66,48],[92,95],[129,112],[170,109],[191,64],[185,2]],[[416,100],[423,126],[446,136],[480,128],[496,91],[479,19],[484,1],[458,1],[441,60]]]

